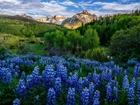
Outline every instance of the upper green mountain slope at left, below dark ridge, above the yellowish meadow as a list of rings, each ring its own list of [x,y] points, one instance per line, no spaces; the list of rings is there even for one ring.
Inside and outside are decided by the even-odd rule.
[[[39,23],[21,16],[1,16],[0,18],[0,33],[18,36],[43,36],[45,32],[56,29],[64,30],[62,26]]]

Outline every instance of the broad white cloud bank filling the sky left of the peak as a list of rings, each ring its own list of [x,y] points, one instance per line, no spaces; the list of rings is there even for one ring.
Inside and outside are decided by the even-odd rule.
[[[53,16],[53,15],[63,15],[63,16],[72,16],[76,14],[74,11],[68,11],[66,6],[60,5],[56,2],[25,2],[27,0],[20,0],[19,3],[15,3],[18,0],[1,0],[0,3],[0,14],[10,14],[10,15],[21,15],[28,14],[33,17],[42,17],[42,16]]]

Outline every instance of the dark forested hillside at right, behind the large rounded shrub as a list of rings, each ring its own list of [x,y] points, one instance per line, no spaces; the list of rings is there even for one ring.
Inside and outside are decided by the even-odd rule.
[[[99,17],[98,21],[89,23],[80,27],[81,34],[84,33],[88,27],[97,30],[100,37],[101,45],[109,45],[111,36],[119,30],[126,30],[140,24],[140,16],[135,14],[118,14],[114,16]]]

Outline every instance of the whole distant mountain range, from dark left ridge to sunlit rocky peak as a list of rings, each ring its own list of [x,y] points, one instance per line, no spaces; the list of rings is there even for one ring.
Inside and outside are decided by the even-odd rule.
[[[84,10],[81,13],[77,13],[70,18],[65,16],[52,16],[52,17],[40,17],[40,18],[32,18],[26,14],[24,15],[0,15],[0,18],[8,18],[12,20],[21,20],[26,22],[43,22],[43,23],[51,23],[51,24],[58,24],[63,25],[69,29],[76,29],[82,25],[85,25],[89,22],[93,22],[97,20],[97,16],[95,14],[89,13],[87,10]]]

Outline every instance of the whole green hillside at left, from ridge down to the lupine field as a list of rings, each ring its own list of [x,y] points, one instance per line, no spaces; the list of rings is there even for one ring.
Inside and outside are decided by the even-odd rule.
[[[28,21],[27,21],[28,20]],[[45,50],[46,32],[66,30],[62,26],[38,23],[29,19],[1,16],[0,18],[0,49],[14,54],[47,54]]]

